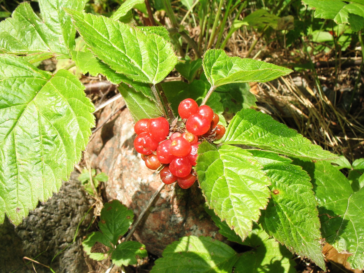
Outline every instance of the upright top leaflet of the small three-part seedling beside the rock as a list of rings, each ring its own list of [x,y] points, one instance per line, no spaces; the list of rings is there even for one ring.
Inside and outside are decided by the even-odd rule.
[[[98,226],[104,236],[113,245],[116,245],[118,244],[119,237],[128,231],[133,218],[132,210],[128,210],[120,201],[113,200],[104,204]]]

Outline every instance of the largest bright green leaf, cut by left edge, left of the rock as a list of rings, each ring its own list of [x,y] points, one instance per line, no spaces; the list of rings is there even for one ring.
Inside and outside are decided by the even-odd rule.
[[[81,159],[95,110],[70,72],[52,75],[0,55],[0,223],[18,225]]]

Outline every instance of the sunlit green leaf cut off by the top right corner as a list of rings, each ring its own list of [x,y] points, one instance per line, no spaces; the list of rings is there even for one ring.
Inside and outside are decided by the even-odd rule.
[[[304,4],[315,9],[316,18],[332,19],[337,24],[350,23],[353,31],[359,31],[364,26],[364,3],[345,3],[340,0],[302,0]],[[356,15],[355,20],[350,20]],[[353,24],[354,23],[354,24]]]

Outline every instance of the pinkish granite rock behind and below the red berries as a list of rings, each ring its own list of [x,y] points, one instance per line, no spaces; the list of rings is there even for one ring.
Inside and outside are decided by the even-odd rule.
[[[116,103],[104,108],[98,124],[114,108],[118,108]],[[108,200],[120,200],[134,211],[136,219],[162,182],[135,151],[135,136],[133,120],[125,108],[95,133],[87,151],[93,167],[109,176],[106,185]],[[204,203],[198,183],[187,190],[176,183],[166,185],[134,236],[146,245],[149,252],[158,256],[166,245],[183,236],[211,236],[223,240],[203,209]]]

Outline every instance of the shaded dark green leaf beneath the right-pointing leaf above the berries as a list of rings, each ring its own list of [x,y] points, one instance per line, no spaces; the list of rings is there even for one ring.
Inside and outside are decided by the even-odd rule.
[[[257,107],[256,97],[249,91],[248,83],[230,83],[215,89],[227,113],[237,113],[242,108]]]

